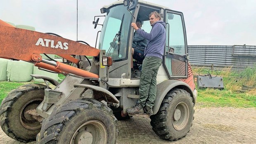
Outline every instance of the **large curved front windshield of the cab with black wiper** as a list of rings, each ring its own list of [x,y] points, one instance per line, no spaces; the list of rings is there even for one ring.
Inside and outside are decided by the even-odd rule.
[[[118,37],[114,38],[120,30],[123,15],[124,19],[119,43],[120,51],[118,54]],[[128,36],[131,20],[132,15],[128,12],[127,7],[123,5],[111,7],[107,13],[100,35],[99,49],[106,50],[108,52],[107,56],[111,56],[114,62],[127,60],[128,58]]]

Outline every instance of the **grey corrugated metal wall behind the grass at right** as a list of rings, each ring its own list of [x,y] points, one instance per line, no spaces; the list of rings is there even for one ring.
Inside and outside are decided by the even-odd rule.
[[[192,66],[236,70],[256,66],[256,46],[188,46],[188,53]]]

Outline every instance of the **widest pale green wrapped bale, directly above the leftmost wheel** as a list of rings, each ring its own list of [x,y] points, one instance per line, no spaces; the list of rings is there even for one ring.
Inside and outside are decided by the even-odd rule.
[[[31,81],[33,74],[33,64],[22,60],[8,60],[7,63],[7,80],[14,82]]]

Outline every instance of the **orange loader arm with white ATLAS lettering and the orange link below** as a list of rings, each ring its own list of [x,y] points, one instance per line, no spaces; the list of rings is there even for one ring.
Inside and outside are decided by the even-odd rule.
[[[15,28],[0,20],[0,58],[24,60],[58,73],[99,78],[97,74],[61,62],[49,63],[40,53],[56,54],[78,64],[79,60],[70,55],[99,56],[100,50],[62,37]]]

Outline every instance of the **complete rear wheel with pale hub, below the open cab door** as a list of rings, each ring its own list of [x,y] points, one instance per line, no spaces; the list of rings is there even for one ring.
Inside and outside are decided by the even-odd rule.
[[[153,131],[162,139],[176,141],[192,126],[194,103],[187,91],[176,88],[165,96],[157,114],[150,116]]]

